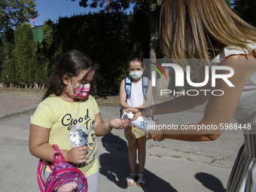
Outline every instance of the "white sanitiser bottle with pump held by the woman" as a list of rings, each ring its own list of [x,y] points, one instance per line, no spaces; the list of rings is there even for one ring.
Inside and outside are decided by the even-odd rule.
[[[123,115],[121,119],[123,119],[123,116],[126,115],[128,119],[132,120],[131,123],[134,126],[137,126],[139,129],[143,131],[151,130],[156,125],[156,122],[154,120],[151,120],[151,118],[139,116],[136,120],[133,120],[133,113],[126,113],[126,111],[123,112]]]

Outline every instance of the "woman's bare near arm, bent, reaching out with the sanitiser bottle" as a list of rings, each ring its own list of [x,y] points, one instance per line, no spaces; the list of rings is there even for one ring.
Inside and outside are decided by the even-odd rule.
[[[250,59],[248,59],[250,58]],[[234,70],[234,75],[228,80],[235,86],[230,87],[222,79],[216,79],[215,90],[223,90],[222,96],[209,97],[209,101],[206,105],[206,110],[203,119],[197,123],[198,125],[215,125],[220,127],[221,123],[229,123],[236,105],[239,102],[243,87],[246,81],[250,77],[251,73],[256,70],[256,61],[251,56],[245,55],[234,55],[228,56],[221,62],[221,66],[230,66]],[[227,74],[226,70],[220,70],[218,75]],[[192,125],[192,124],[191,124]],[[194,123],[196,125],[196,123]],[[178,127],[181,128],[181,127]],[[169,133],[163,134],[152,134],[150,138],[161,141],[163,139],[178,139],[184,141],[209,141],[215,140],[220,136],[223,130],[184,130],[185,134],[179,134],[180,130],[171,130]],[[177,134],[178,135],[175,135]]]

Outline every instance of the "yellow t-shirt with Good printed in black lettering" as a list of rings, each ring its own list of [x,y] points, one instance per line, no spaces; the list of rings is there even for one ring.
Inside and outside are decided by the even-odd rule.
[[[87,144],[86,163],[73,164],[85,176],[93,175],[99,169],[96,157],[97,143],[95,116],[99,107],[93,96],[80,102],[66,102],[54,94],[44,99],[30,118],[30,123],[50,130],[49,144],[58,145],[61,150]],[[50,169],[46,169],[50,172]]]

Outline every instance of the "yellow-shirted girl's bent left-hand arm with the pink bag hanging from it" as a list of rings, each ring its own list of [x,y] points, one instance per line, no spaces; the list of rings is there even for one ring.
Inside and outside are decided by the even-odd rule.
[[[54,148],[48,143],[50,129],[34,124],[30,125],[29,151],[35,157],[53,162]],[[71,150],[60,150],[66,162],[84,163],[87,159],[87,146],[79,146]]]

